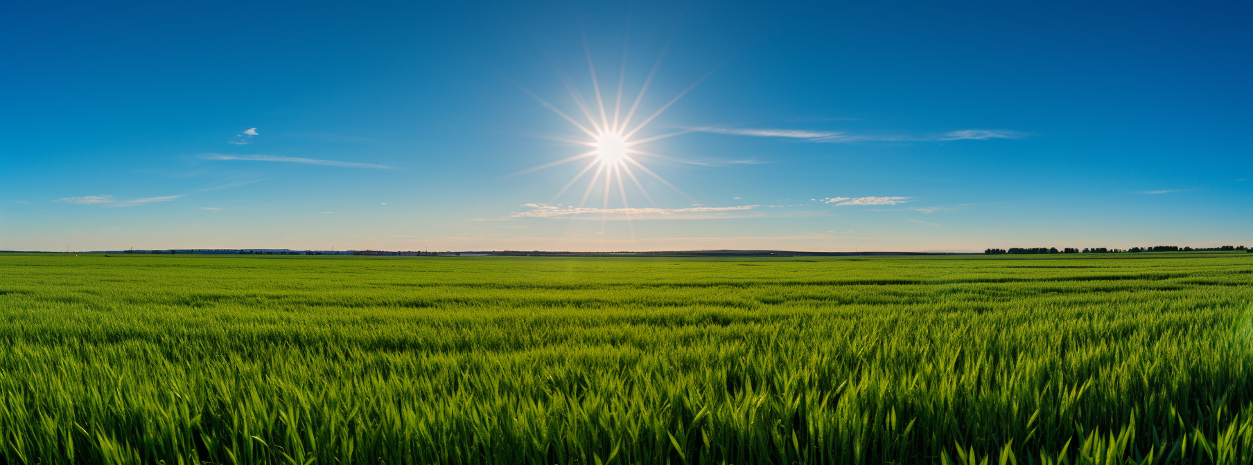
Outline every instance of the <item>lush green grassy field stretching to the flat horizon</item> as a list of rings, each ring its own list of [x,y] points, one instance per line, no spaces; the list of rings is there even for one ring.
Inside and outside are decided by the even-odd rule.
[[[1253,464],[1253,254],[0,255],[5,464]]]

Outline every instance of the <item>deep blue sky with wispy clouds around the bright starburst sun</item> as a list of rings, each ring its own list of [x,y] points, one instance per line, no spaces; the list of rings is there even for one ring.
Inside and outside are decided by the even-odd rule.
[[[0,249],[1253,245],[1250,24],[1249,2],[5,2]],[[620,118],[648,82],[621,132],[665,108],[630,140],[680,134],[526,171],[598,150],[553,110],[599,135],[619,79]]]

